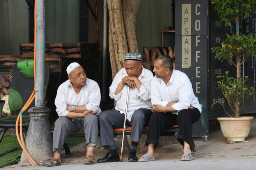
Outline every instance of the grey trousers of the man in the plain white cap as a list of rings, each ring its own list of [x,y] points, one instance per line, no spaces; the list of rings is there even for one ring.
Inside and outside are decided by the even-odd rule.
[[[86,144],[97,145],[98,140],[98,115],[87,114],[83,119],[72,119],[59,117],[55,121],[53,131],[53,152],[58,149],[61,153],[67,134],[82,131],[85,133]]]

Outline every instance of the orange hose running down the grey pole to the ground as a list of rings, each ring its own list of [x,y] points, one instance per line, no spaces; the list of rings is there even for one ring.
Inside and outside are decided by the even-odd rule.
[[[25,105],[23,106],[23,108],[21,109],[21,112],[25,111],[29,106],[30,104],[33,102],[33,100],[35,99],[35,63],[36,63],[36,40],[37,40],[37,33],[36,33],[36,14],[37,14],[37,0],[34,1],[34,90],[32,92],[32,94],[30,95],[29,99],[27,100],[27,102],[25,103]],[[18,142],[19,142],[19,145],[21,145],[24,153],[27,155],[27,159],[29,160],[30,164],[31,165],[37,165],[37,163],[35,162],[35,160],[32,158],[32,156],[27,152],[26,150],[26,147],[25,147],[25,143],[24,143],[24,139],[23,139],[23,134],[22,134],[22,115],[20,116],[21,112],[18,114],[18,117],[17,117],[17,120],[16,120],[16,126],[15,126],[15,129],[16,129],[16,136],[17,136],[17,139],[18,139]],[[19,126],[20,126],[20,136],[21,136],[21,139],[19,138],[19,134],[18,134],[18,122],[19,122],[19,119],[20,119],[20,123],[19,123]]]

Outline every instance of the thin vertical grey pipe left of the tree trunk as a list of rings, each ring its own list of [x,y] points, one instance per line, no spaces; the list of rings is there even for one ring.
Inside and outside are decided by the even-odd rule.
[[[103,18],[103,88],[102,100],[106,101],[106,62],[107,62],[107,0],[104,0],[104,18]]]

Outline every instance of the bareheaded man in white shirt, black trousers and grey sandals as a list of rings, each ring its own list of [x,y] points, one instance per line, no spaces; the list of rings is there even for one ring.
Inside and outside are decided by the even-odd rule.
[[[153,161],[154,149],[158,146],[160,134],[178,125],[178,142],[184,146],[181,160],[193,160],[191,155],[192,124],[201,116],[201,106],[195,97],[192,84],[187,75],[173,69],[173,60],[159,56],[154,61],[155,77],[151,82],[151,101],[153,115],[150,119],[146,145],[148,151],[139,162]]]

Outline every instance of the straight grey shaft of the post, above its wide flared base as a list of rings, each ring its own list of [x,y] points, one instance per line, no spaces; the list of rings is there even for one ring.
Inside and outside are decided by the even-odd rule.
[[[37,0],[37,53],[35,107],[43,106],[45,94],[45,0]]]

